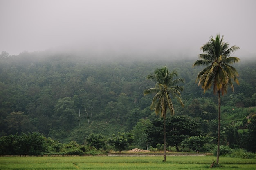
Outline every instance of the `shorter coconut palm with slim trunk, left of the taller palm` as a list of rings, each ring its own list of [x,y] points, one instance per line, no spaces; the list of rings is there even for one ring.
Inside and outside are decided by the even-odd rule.
[[[164,160],[166,161],[166,130],[165,130],[165,119],[166,111],[170,110],[171,115],[174,114],[174,107],[172,99],[175,97],[182,106],[184,106],[181,98],[180,91],[183,90],[183,86],[176,86],[180,82],[184,82],[184,79],[177,78],[177,71],[169,72],[166,67],[156,69],[154,74],[147,76],[147,79],[152,79],[156,82],[155,88],[149,88],[144,91],[144,95],[149,93],[155,93],[152,99],[151,110],[155,110],[156,115],[161,113],[161,117],[164,118]]]

